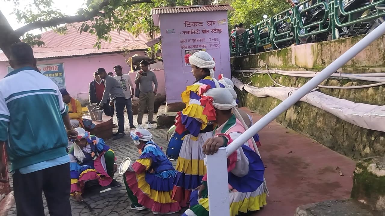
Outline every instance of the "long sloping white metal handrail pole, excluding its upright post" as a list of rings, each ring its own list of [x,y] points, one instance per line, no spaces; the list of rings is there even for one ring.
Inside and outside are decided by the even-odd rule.
[[[253,126],[251,126],[248,130],[246,130],[241,136],[236,138],[231,145],[226,146],[227,153],[230,155],[239,147],[242,146],[247,140],[253,137],[258,131],[268,125],[271,121],[277,118],[281,113],[286,111],[290,106],[294,105],[297,101],[299,101],[303,96],[309,93],[313,88],[316,88],[320,83],[326,80],[330,75],[332,75],[335,71],[345,65],[349,60],[351,60],[354,56],[360,53],[363,49],[365,49],[370,43],[375,41],[381,35],[385,33],[385,23],[379,25],[373,32],[370,32],[367,36],[362,38],[358,43],[356,43],[352,48],[343,53],[340,57],[338,57],[335,61],[333,61],[329,66],[323,69],[318,75],[309,80],[305,85],[296,90],[293,95],[289,96],[286,100],[282,101],[278,106],[276,106],[273,110],[267,113],[263,118],[257,121]],[[304,56],[306,58],[306,56]]]

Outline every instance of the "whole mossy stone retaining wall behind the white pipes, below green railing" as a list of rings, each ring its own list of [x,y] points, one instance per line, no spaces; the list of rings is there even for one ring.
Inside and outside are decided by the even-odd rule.
[[[376,43],[385,42],[385,37],[379,38]],[[306,48],[321,48],[324,50],[325,47],[334,47],[334,50],[338,50],[338,47],[343,46],[341,41],[347,40],[349,45],[352,45],[353,41],[357,42],[357,38],[344,38],[331,42],[322,42],[318,44],[310,45],[300,45],[295,46]],[[325,47],[323,47],[325,46]],[[383,45],[382,45],[383,46]],[[351,73],[355,71],[355,68],[361,68],[360,73],[370,71],[372,72],[383,72],[385,68],[382,68],[384,63],[383,55],[385,53],[384,49],[379,50],[378,47],[369,47],[373,50],[365,50],[367,53],[372,53],[372,63],[364,62],[368,58],[363,58],[358,56],[358,60],[352,61],[346,65],[344,70]],[[303,48],[301,48],[302,50]],[[345,47],[341,49],[347,49]],[[291,69],[291,70],[311,70],[318,71],[321,68],[327,66],[328,63],[333,61],[326,59],[327,56],[322,56],[322,59],[319,60],[319,55],[314,49],[307,50],[305,58],[315,59],[312,60],[317,64],[311,65],[312,67],[302,67],[298,68],[298,65],[293,65],[293,59],[297,58],[299,54],[293,54],[293,47],[276,50],[271,52],[259,53],[250,56],[236,57],[233,58],[233,68],[258,68],[262,66],[263,63],[273,64],[274,68],[280,69]],[[328,52],[331,58],[331,55],[338,57],[339,54]],[[377,56],[382,55],[382,56]],[[382,63],[380,63],[380,58]],[[321,61],[323,63],[321,64]],[[376,63],[377,62],[377,63]],[[370,65],[373,64],[373,65]],[[304,66],[304,65],[303,65]],[[306,65],[305,65],[306,66]],[[352,66],[352,67],[349,67]],[[357,66],[357,67],[355,67]],[[367,70],[367,68],[372,68]],[[239,77],[240,74],[234,73],[233,76]],[[303,86],[310,78],[303,77],[293,77],[293,76],[281,76],[281,75],[272,75],[273,79],[280,83],[281,85],[288,87],[301,87]],[[250,78],[240,78],[243,83],[248,83],[252,81],[251,85],[256,87],[266,87],[273,85],[273,81],[269,78],[268,75],[253,75]],[[331,86],[357,86],[357,85],[366,85],[372,82],[367,81],[352,81],[352,80],[338,80],[338,79],[328,79],[321,83],[321,85],[331,85]],[[372,88],[360,88],[360,89],[331,89],[331,88],[320,88],[319,91],[327,95],[334,96],[336,98],[342,98],[350,100],[356,103],[367,103],[372,105],[385,105],[385,86],[377,86]],[[265,115],[271,111],[275,106],[277,106],[281,101],[273,98],[257,98],[256,96],[251,95],[250,93],[240,92],[237,90],[238,99],[241,106],[246,106],[249,109],[256,111],[262,115]],[[297,102],[294,106],[291,106],[285,113],[281,114],[276,118],[278,123],[281,123],[283,126],[288,126],[293,130],[296,130],[304,135],[313,138],[319,143],[331,148],[335,151],[340,152],[343,155],[346,155],[353,159],[365,158],[368,156],[380,156],[385,153],[385,132],[368,130],[361,128],[356,125],[352,125],[346,121],[341,120],[340,118],[327,113],[315,106],[312,106],[305,102]],[[263,139],[263,138],[262,138]]]

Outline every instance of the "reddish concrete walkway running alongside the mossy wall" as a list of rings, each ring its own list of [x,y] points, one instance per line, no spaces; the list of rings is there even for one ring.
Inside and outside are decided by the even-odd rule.
[[[254,123],[262,118],[241,109]],[[276,122],[258,134],[270,194],[268,204],[253,216],[293,216],[303,204],[350,197],[355,161]]]

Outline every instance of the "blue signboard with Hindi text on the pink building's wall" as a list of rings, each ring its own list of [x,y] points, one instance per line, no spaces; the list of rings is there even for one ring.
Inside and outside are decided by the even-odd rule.
[[[44,76],[47,76],[52,81],[54,81],[59,89],[65,88],[63,64],[37,65],[37,68]],[[13,69],[8,67],[8,73],[12,71]]]

